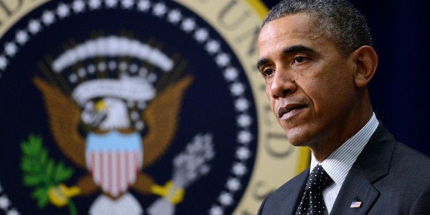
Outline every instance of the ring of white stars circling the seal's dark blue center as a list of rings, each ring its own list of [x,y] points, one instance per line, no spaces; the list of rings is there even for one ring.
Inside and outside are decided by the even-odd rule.
[[[233,97],[233,107],[236,111],[238,132],[236,134],[236,141],[238,147],[235,153],[235,161],[231,166],[231,175],[225,183],[225,190],[221,190],[218,196],[218,202],[212,205],[208,211],[211,215],[224,214],[226,207],[234,204],[234,194],[243,188],[240,179],[249,173],[246,167],[246,161],[253,157],[249,144],[253,141],[254,136],[251,133],[250,127],[253,124],[253,117],[249,114],[251,101],[246,99],[244,93],[246,92],[246,84],[242,83],[239,79],[240,73],[243,73],[240,68],[231,64],[231,54],[223,51],[223,42],[218,38],[212,38],[210,30],[205,27],[200,27],[193,17],[185,16],[181,10],[177,8],[168,8],[165,3],[155,3],[150,0],[75,0],[71,3],[58,3],[56,8],[45,10],[40,17],[31,18],[24,29],[17,29],[13,40],[5,42],[3,46],[0,45],[0,79],[3,73],[8,68],[10,60],[14,58],[16,53],[24,47],[31,36],[36,36],[42,29],[50,27],[56,22],[84,12],[91,12],[105,9],[119,9],[119,10],[136,10],[138,12],[148,13],[157,18],[165,18],[168,23],[179,27],[186,34],[189,34],[198,44],[202,45],[203,49],[212,56],[214,63],[220,69],[225,81],[229,84],[231,97]],[[3,50],[1,50],[3,48]],[[99,65],[91,65],[88,68],[82,68],[77,75],[71,75],[69,81],[76,81],[79,76],[86,73],[94,73],[95,68],[101,70],[116,68],[115,62],[101,63]],[[144,69],[137,68],[134,65],[132,68],[133,73],[143,73]],[[155,81],[156,77],[151,77],[151,81]],[[140,104],[144,107],[144,104]],[[134,118],[136,118],[134,116]],[[143,127],[143,125],[140,125]],[[1,187],[0,187],[1,188]],[[0,192],[1,194],[1,192]],[[0,196],[0,208],[3,209],[5,205],[9,205],[10,201],[5,195]],[[16,210],[8,211],[8,214],[19,214]]]

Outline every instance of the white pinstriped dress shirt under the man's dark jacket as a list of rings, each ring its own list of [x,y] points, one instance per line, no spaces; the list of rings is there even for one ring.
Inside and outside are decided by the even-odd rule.
[[[349,138],[349,140],[346,140],[344,144],[333,151],[323,162],[319,163],[314,155],[312,155],[310,169],[312,170],[317,164],[321,164],[327,174],[333,179],[333,183],[329,184],[329,186],[323,190],[323,199],[327,207],[326,214],[331,212],[346,175],[348,175],[359,153],[362,152],[378,125],[379,122],[375,113],[373,113],[368,123],[366,123],[357,134]]]

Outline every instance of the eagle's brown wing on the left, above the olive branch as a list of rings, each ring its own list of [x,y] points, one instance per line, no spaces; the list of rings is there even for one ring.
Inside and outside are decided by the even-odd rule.
[[[81,110],[59,88],[40,77],[34,77],[33,81],[45,99],[51,132],[58,147],[75,164],[86,168],[85,140],[78,130]]]

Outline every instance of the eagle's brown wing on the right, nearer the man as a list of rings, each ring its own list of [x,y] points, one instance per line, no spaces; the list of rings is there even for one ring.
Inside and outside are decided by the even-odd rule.
[[[143,120],[148,125],[148,134],[143,138],[144,162],[147,167],[168,149],[175,136],[184,91],[192,82],[187,76],[168,86],[158,94],[144,110]]]

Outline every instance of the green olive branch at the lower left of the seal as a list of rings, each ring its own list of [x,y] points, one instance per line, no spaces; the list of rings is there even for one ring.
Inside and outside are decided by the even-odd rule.
[[[42,145],[42,137],[30,134],[27,141],[21,141],[21,170],[23,184],[34,187],[31,197],[36,199],[40,209],[49,203],[49,188],[58,186],[73,175],[73,168],[68,168],[64,162],[57,162],[48,157],[48,150]],[[75,204],[69,200],[70,214],[77,214]]]

